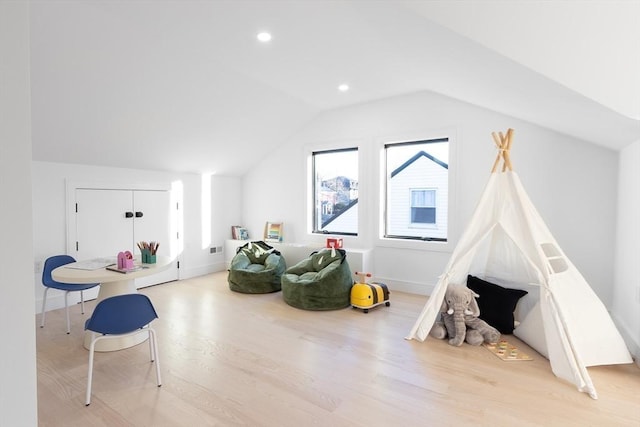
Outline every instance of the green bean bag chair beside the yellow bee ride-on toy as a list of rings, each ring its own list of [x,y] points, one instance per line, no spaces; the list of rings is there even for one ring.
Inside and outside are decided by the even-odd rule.
[[[287,269],[282,296],[303,310],[337,310],[351,305],[353,278],[342,249],[322,249]]]

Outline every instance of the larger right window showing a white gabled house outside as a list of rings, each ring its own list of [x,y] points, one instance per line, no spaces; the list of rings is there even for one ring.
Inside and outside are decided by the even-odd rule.
[[[384,236],[447,241],[449,139],[386,144]]]

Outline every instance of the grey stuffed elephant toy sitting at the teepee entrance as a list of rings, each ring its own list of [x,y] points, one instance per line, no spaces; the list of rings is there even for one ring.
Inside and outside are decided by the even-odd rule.
[[[433,325],[429,335],[438,339],[448,336],[449,344],[454,346],[461,346],[464,341],[471,345],[498,342],[500,332],[478,318],[480,308],[477,297],[466,286],[449,285],[440,307],[442,321]]]

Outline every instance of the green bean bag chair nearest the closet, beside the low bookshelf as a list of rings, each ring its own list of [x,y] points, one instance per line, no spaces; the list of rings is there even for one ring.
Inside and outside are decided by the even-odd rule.
[[[280,252],[264,242],[248,242],[231,260],[229,289],[245,294],[277,292],[286,268]]]

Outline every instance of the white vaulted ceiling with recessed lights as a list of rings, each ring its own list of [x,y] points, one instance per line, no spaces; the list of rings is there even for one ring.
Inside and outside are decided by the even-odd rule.
[[[639,20],[636,0],[32,1],[33,158],[241,175],[323,111],[419,91],[617,150],[640,139]]]

